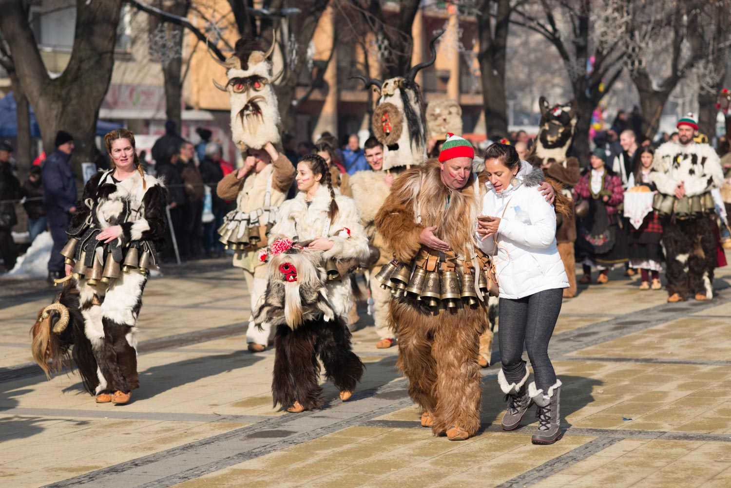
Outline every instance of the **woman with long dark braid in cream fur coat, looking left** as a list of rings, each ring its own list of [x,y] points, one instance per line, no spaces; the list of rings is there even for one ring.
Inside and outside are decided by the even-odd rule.
[[[327,302],[335,314],[335,320],[325,321],[325,326],[336,327],[328,329],[327,335],[336,337],[335,343],[328,343],[322,350],[317,338],[307,345],[304,343],[289,347],[281,346],[287,341],[287,335],[292,332],[288,327],[279,326],[274,339],[277,354],[311,355],[310,361],[301,361],[300,358],[288,358],[289,364],[308,364],[313,370],[291,371],[301,383],[310,382],[310,378],[317,377],[317,360],[315,354],[319,352],[321,359],[328,356],[343,357],[340,370],[333,371],[325,364],[328,377],[340,389],[340,398],[345,401],[353,394],[355,383],[363,374],[363,363],[350,351],[350,332],[346,327],[348,311],[352,306],[351,274],[357,264],[368,256],[368,237],[360,225],[355,202],[352,198],[344,197],[340,191],[333,188],[330,172],[325,159],[317,154],[303,156],[297,165],[298,194],[294,199],[287,200],[280,207],[279,222],[273,227],[269,242],[275,243],[280,239],[289,239],[299,243],[308,250],[322,253],[322,264],[325,265],[330,279],[325,286]],[[268,289],[269,291],[269,289]],[[265,296],[265,302],[271,297]],[[339,354],[329,350],[333,347],[342,349]],[[308,358],[309,359],[309,358]],[[287,383],[287,378],[280,378],[275,370],[273,390],[280,391],[281,384]],[[319,387],[311,388],[311,394],[298,398],[282,398],[275,395],[275,402],[281,403],[287,411],[297,413],[311,410],[322,405],[322,390]]]

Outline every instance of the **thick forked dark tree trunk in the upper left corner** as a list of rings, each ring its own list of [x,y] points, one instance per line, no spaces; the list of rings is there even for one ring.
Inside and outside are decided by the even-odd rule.
[[[121,0],[77,0],[74,44],[69,64],[51,77],[43,64],[23,0],[0,0],[0,31],[15,60],[15,73],[33,107],[46,153],[53,151],[58,129],[73,134],[72,164],[91,161],[99,106],[107,93]],[[23,60],[23,62],[18,62]]]

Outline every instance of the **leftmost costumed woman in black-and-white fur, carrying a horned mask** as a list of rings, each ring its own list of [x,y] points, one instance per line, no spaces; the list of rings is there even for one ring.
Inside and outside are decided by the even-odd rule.
[[[86,183],[61,251],[67,284],[53,307],[71,324],[51,329],[48,313],[40,314],[33,351],[43,367],[73,344],[84,386],[96,402],[121,405],[140,386],[137,316],[164,235],[167,191],[145,175],[131,131],[115,129],[105,144],[114,167]],[[53,367],[61,363],[53,361]]]

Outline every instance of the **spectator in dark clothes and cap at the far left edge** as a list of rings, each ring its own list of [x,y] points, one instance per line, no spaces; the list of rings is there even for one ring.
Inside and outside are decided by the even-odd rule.
[[[12,240],[11,230],[12,226],[18,224],[15,202],[12,200],[20,197],[20,183],[10,167],[11,154],[12,145],[0,142],[0,257],[8,271],[15,267],[15,260],[18,259],[18,248]]]

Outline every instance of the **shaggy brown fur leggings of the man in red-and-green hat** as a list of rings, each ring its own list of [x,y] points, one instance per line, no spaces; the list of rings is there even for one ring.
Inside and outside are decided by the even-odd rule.
[[[391,300],[390,322],[398,334],[396,366],[409,379],[409,396],[433,419],[439,435],[458,425],[473,435],[480,428],[480,334],[485,307],[439,310],[402,297]]]

